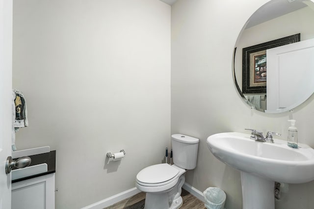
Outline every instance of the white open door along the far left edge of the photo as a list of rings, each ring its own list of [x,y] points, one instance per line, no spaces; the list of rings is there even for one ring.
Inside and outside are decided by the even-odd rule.
[[[11,174],[5,174],[5,161],[12,140],[12,6],[12,0],[0,0],[0,209],[11,208]]]

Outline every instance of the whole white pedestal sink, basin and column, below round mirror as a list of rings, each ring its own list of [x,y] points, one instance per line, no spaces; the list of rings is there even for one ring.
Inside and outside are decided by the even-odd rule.
[[[266,143],[227,132],[209,136],[207,145],[216,158],[241,172],[243,209],[275,209],[275,182],[314,180],[314,150],[306,144],[293,149],[284,140]]]

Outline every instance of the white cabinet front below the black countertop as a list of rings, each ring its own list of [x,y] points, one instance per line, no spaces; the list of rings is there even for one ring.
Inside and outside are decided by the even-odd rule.
[[[54,209],[54,173],[12,183],[11,209]]]

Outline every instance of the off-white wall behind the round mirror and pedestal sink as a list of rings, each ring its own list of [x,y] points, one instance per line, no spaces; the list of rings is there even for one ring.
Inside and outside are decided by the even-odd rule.
[[[227,209],[242,206],[240,174],[209,152],[209,135],[256,128],[283,133],[281,139],[286,139],[287,120],[293,117],[299,142],[314,147],[313,96],[293,113],[265,114],[251,110],[235,88],[232,55],[237,36],[266,1],[179,0],[171,10],[171,131],[200,138],[198,165],[186,173],[186,182],[200,191],[222,188]],[[289,184],[276,209],[313,208],[313,192],[314,182]]]

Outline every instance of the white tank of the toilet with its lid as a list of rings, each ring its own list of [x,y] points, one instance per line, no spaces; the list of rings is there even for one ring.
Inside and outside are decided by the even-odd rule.
[[[171,135],[173,163],[187,170],[194,169],[199,141],[198,138],[183,134]]]

